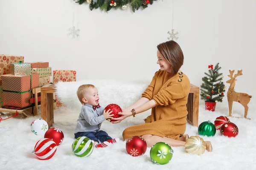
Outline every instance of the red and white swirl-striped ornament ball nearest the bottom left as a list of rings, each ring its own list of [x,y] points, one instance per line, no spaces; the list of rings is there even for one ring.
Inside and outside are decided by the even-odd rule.
[[[56,150],[57,145],[55,142],[52,139],[44,138],[35,144],[35,150],[32,153],[35,153],[38,159],[47,160],[55,155]]]

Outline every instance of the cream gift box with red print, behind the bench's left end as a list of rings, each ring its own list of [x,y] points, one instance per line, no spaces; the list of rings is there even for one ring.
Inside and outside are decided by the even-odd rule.
[[[76,82],[76,71],[73,70],[54,70],[53,71],[53,82]],[[61,107],[63,104],[58,100],[55,95],[56,107]]]

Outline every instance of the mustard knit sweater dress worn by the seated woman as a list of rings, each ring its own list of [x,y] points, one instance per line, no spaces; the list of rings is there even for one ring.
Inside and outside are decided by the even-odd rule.
[[[151,134],[178,140],[186,130],[189,91],[189,79],[182,72],[170,76],[166,71],[157,71],[142,94],[157,104],[152,108],[151,122],[126,128],[123,139]]]

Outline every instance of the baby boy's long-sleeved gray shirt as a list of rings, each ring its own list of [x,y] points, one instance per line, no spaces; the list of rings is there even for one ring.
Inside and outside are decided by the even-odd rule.
[[[100,129],[102,122],[105,120],[103,116],[104,108],[93,109],[92,105],[84,104],[81,113],[77,119],[75,133],[78,132],[96,132]]]

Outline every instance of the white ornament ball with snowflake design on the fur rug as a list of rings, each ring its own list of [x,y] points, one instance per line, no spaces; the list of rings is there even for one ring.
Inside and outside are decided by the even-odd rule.
[[[48,124],[42,118],[36,119],[31,123],[31,131],[35,135],[44,136],[44,133],[46,133],[47,130],[48,130]]]

